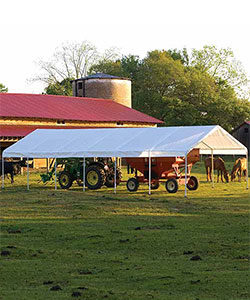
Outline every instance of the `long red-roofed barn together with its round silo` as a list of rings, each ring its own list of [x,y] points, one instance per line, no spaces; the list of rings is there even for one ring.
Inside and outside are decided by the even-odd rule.
[[[0,154],[38,128],[155,127],[162,123],[132,109],[127,78],[98,73],[74,80],[72,87],[74,97],[0,93]]]

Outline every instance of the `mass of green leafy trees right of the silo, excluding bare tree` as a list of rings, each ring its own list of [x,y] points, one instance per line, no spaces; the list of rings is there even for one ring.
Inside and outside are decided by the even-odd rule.
[[[221,50],[220,57],[214,47],[205,50],[209,59],[195,51],[190,58],[186,49],[154,50],[141,60],[130,55],[101,62],[92,71],[131,78],[133,107],[167,126],[219,124],[231,131],[250,119],[250,102],[226,78],[227,67],[228,76],[236,72],[227,62],[232,53]],[[220,59],[226,61],[219,64]]]

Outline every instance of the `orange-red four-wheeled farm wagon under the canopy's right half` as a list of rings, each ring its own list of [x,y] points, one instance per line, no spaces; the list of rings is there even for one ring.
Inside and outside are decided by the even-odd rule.
[[[135,170],[135,177],[127,181],[130,192],[138,190],[140,183],[149,183],[148,157],[126,158],[128,165]],[[199,161],[199,149],[193,149],[187,155],[187,188],[196,190],[199,182],[191,176],[192,166]],[[129,170],[130,168],[128,168]],[[138,175],[138,171],[141,173]],[[169,193],[176,193],[179,185],[185,184],[184,157],[152,157],[151,158],[151,189],[158,189],[160,182],[165,182]]]

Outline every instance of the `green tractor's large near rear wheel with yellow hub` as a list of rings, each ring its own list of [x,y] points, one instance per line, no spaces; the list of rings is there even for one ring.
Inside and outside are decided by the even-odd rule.
[[[105,171],[103,168],[97,165],[93,165],[87,168],[86,171],[86,186],[90,190],[100,189],[106,180]]]

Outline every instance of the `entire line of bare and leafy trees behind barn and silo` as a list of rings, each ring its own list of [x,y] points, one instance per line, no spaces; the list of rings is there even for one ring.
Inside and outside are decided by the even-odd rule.
[[[38,64],[33,80],[45,82],[45,94],[71,96],[71,80],[96,72],[128,77],[133,108],[164,126],[218,124],[231,131],[250,120],[249,81],[229,48],[153,50],[140,58],[115,48],[100,53],[84,41],[65,44]]]

